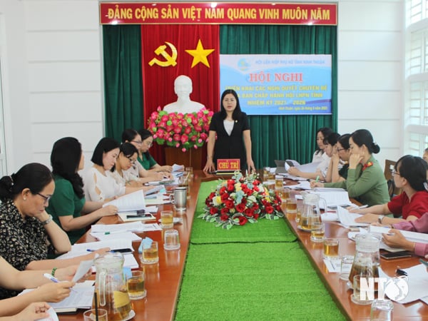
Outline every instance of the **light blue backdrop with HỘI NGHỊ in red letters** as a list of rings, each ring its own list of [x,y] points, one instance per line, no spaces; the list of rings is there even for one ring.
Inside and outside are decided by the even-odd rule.
[[[220,55],[220,90],[248,115],[332,113],[331,55]]]

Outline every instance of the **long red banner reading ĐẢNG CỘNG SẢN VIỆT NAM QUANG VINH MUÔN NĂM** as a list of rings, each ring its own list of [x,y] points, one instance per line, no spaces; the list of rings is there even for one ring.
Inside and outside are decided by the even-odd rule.
[[[337,4],[101,2],[100,23],[337,25]]]

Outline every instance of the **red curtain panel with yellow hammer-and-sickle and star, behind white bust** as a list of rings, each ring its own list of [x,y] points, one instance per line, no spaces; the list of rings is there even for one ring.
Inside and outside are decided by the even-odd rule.
[[[177,101],[174,80],[192,79],[190,100],[218,111],[220,106],[220,40],[218,25],[141,25],[144,126],[158,106]],[[151,154],[161,163],[161,148]],[[170,165],[170,164],[169,164]]]

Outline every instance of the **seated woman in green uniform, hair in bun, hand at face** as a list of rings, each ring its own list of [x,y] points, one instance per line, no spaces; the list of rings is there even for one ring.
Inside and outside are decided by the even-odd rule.
[[[389,201],[387,180],[373,153],[380,147],[374,143],[367,129],[359,129],[350,137],[350,161],[347,179],[337,183],[312,183],[312,187],[345,188],[350,198],[364,205],[384,204]]]

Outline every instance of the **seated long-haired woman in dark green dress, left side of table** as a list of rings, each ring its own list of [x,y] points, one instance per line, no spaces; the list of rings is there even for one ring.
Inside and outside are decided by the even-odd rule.
[[[51,165],[56,188],[46,211],[74,244],[85,233],[86,226],[103,216],[115,215],[118,209],[113,205],[103,208],[103,202],[86,201],[83,180],[78,174],[83,169],[84,158],[76,138],[65,137],[54,143]]]

